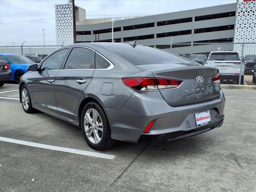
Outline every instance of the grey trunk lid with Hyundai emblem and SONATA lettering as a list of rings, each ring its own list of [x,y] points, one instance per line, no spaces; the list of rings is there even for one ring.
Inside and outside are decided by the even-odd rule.
[[[150,64],[137,66],[142,70],[151,71],[155,77],[183,80],[174,89],[160,90],[164,100],[170,106],[195,104],[218,98],[220,85],[212,81],[218,70],[216,68],[195,66],[194,64]],[[196,77],[203,76],[202,82]]]

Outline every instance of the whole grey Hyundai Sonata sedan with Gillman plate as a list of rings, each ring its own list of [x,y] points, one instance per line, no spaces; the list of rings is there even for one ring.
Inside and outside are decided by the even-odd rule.
[[[220,127],[218,69],[136,44],[79,43],[47,56],[20,79],[25,112],[82,128],[89,146],[169,141]]]

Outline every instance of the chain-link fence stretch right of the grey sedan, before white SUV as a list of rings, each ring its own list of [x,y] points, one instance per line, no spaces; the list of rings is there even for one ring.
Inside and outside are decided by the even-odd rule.
[[[144,44],[218,68],[222,84],[256,84],[256,43]]]

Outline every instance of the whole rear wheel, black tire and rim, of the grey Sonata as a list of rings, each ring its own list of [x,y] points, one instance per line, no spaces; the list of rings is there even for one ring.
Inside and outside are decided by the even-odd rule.
[[[96,102],[87,103],[81,115],[81,127],[87,144],[95,150],[104,150],[114,146],[107,116]]]

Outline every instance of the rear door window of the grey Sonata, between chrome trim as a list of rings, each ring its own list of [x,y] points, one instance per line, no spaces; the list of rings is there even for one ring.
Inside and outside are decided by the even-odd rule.
[[[94,69],[95,52],[87,48],[73,48],[64,69]]]

